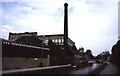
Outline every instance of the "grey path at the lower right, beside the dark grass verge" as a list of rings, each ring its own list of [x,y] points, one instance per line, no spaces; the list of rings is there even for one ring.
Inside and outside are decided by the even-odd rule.
[[[109,63],[100,74],[118,74],[118,70],[115,65]]]

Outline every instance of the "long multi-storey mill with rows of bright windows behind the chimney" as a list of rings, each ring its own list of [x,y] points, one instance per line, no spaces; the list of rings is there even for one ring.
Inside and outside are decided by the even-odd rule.
[[[25,32],[25,33],[9,33],[9,40],[15,42],[23,36],[35,36],[41,41],[43,44],[48,46],[49,40],[52,40],[53,43],[59,46],[64,45],[64,34],[55,34],[55,35],[37,35],[37,32]],[[70,38],[68,38],[68,46],[72,48],[75,46],[75,42],[73,42]]]

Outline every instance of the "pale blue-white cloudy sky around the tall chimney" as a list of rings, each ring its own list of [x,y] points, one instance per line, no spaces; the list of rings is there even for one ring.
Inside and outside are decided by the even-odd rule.
[[[93,55],[111,52],[118,39],[118,0],[2,0],[0,38],[8,39],[9,32],[63,34],[64,3],[76,47],[91,49]]]

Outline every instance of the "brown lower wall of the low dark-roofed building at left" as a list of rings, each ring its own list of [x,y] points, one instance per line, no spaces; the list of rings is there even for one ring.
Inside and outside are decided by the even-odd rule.
[[[50,56],[47,58],[25,58],[25,57],[3,57],[2,58],[2,69],[25,69],[25,68],[34,68],[39,67],[40,63],[43,63],[43,66],[49,66]]]

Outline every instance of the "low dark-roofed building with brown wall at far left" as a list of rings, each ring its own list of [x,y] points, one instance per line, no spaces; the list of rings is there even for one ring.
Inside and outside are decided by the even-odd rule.
[[[49,48],[2,40],[2,70],[45,67],[49,65]]]

